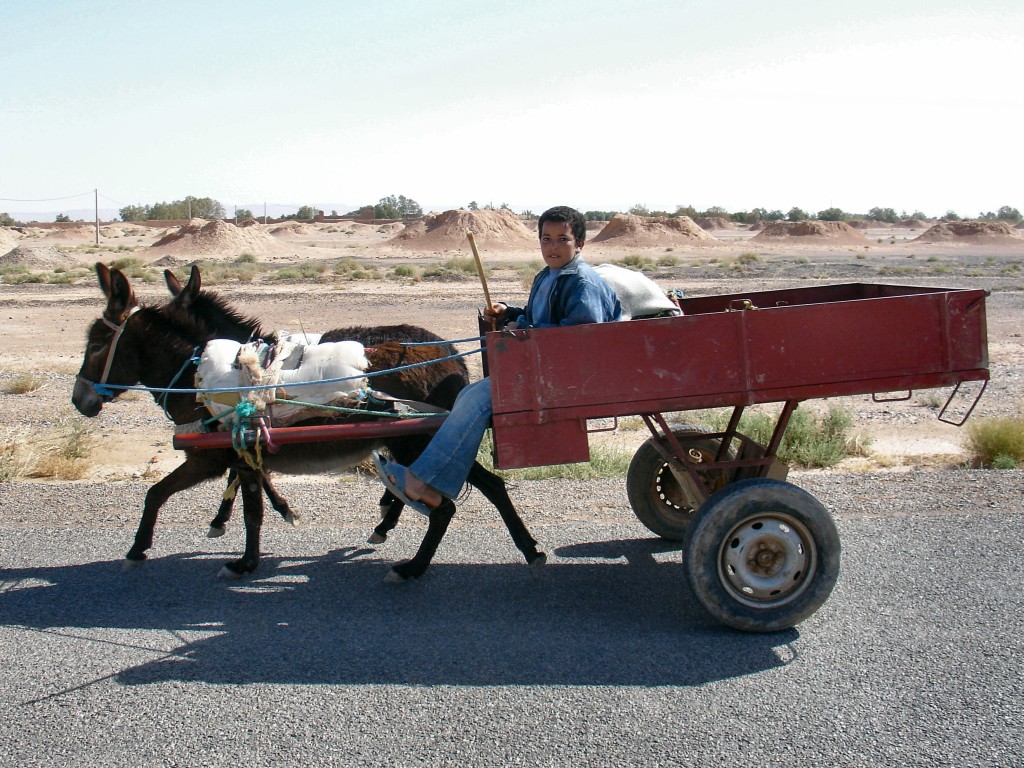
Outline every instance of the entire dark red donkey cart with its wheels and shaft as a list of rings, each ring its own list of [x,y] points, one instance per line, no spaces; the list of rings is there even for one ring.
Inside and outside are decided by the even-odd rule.
[[[683,299],[679,317],[488,333],[496,465],[587,461],[594,420],[642,417],[651,437],[627,476],[637,517],[658,536],[685,541],[690,584],[719,621],[761,632],[792,627],[827,599],[840,567],[830,515],[785,481],[776,457],[794,409],[812,398],[906,398],[951,387],[940,418],[967,401],[951,422],[963,424],[988,380],[986,295],[817,286]],[[962,390],[969,382],[978,384]],[[766,402],[782,406],[762,445],[737,427],[748,406]],[[721,407],[732,409],[722,432],[670,425],[666,416]],[[293,427],[272,436],[347,439],[437,425]],[[178,435],[175,446],[212,446],[215,434]]]

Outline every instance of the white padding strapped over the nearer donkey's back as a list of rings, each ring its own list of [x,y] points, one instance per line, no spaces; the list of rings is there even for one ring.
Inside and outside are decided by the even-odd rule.
[[[301,335],[291,338],[301,338]],[[255,342],[241,344],[229,339],[207,342],[196,372],[197,389],[231,390],[255,384],[276,386],[241,393],[201,392],[197,398],[213,416],[224,416],[234,411],[242,399],[247,399],[260,410],[265,406],[274,426],[286,426],[323,414],[305,406],[273,403],[275,397],[319,404],[352,404],[357,391],[367,386],[364,374],[370,362],[362,344],[357,341],[312,345],[279,342],[276,358],[264,368],[267,351],[265,344]],[[345,381],[327,382],[327,379]],[[289,386],[298,382],[316,383]]]

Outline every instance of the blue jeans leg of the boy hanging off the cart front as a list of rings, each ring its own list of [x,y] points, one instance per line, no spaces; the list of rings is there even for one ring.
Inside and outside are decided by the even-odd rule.
[[[490,380],[470,384],[459,392],[452,413],[410,470],[442,496],[455,499],[476,461],[490,413]]]

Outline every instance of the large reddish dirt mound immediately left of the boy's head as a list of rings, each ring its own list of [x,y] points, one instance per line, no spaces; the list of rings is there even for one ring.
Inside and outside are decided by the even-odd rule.
[[[466,211],[461,208],[416,219],[384,245],[410,250],[468,250],[467,230],[473,232],[481,249],[524,251],[537,248],[537,237],[511,211]]]

